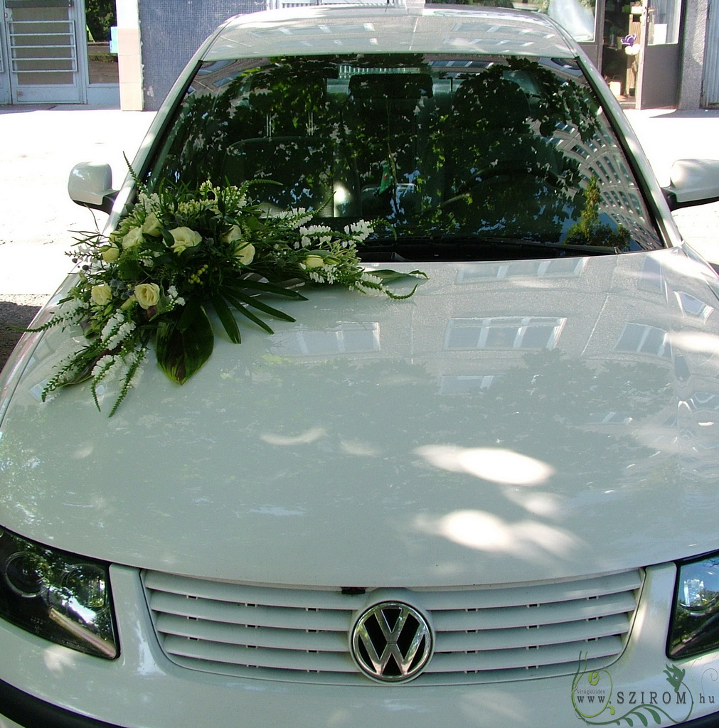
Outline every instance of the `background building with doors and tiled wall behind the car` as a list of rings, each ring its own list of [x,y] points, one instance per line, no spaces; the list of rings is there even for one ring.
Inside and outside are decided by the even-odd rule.
[[[0,0],[0,104],[155,110],[216,25],[278,1]],[[483,1],[565,25],[627,107],[719,107],[719,0]]]

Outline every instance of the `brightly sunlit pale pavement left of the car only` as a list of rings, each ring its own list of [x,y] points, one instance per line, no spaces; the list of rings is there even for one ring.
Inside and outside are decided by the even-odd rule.
[[[0,301],[54,293],[71,266],[64,254],[73,233],[102,227],[67,194],[77,162],[109,162],[114,182],[125,177],[153,112],[87,106],[0,106]]]

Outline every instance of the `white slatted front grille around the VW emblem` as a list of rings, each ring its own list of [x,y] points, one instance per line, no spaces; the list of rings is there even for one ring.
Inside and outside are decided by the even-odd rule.
[[[428,614],[435,648],[411,684],[488,683],[598,669],[624,649],[641,571],[513,587],[391,590]],[[258,587],[148,571],[157,638],[178,665],[221,675],[373,683],[350,655],[358,612],[389,590]]]

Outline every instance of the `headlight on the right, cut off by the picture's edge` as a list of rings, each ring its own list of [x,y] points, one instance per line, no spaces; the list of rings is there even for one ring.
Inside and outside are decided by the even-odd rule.
[[[719,553],[680,563],[669,625],[669,657],[719,649]]]

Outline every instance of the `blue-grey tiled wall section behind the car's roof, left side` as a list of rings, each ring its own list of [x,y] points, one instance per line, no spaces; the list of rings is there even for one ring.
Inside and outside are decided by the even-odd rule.
[[[197,47],[240,12],[267,7],[265,0],[139,0],[144,108],[155,111]]]

